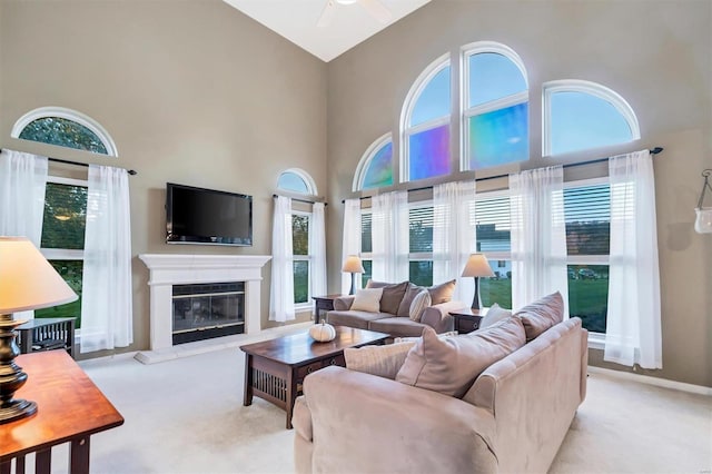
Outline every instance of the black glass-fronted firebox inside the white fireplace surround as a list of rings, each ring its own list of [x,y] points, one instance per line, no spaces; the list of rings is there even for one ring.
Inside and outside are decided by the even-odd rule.
[[[174,285],[172,342],[245,333],[245,283]]]

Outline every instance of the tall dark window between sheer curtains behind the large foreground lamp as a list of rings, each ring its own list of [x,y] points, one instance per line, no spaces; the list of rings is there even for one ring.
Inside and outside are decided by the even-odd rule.
[[[77,328],[81,327],[87,186],[87,181],[48,177],[41,251],[79,299],[34,312],[38,318],[76,317]]]

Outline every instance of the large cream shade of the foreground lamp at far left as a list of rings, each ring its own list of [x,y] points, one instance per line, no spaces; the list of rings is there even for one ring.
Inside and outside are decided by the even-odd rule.
[[[77,294],[30,240],[0,237],[0,314],[47,308],[75,299]]]

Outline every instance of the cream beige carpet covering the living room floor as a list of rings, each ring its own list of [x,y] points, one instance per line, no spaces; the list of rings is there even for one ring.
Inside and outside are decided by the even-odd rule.
[[[126,418],[91,440],[93,473],[290,473],[285,412],[243,406],[244,356],[81,363]],[[55,472],[66,472],[56,448]],[[32,466],[28,466],[32,472]],[[553,473],[710,473],[712,397],[592,374]],[[355,472],[358,472],[357,467]]]

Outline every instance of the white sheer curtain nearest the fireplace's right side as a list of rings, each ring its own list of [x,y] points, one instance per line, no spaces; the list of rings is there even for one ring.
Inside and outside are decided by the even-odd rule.
[[[284,196],[277,196],[275,198],[275,215],[271,227],[269,320],[284,323],[294,318],[291,199]]]

